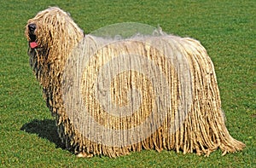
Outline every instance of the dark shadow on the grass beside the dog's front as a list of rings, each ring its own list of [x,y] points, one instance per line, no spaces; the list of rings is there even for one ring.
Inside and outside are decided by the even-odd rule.
[[[48,139],[49,142],[55,143],[56,148],[66,149],[65,145],[61,143],[61,139],[58,136],[57,127],[55,125],[55,120],[53,119],[34,119],[30,123],[23,125],[20,130],[24,130],[31,134],[37,134],[39,137]]]

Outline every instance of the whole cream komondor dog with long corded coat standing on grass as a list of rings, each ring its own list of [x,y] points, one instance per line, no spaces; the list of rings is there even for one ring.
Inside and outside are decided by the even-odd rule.
[[[224,125],[214,67],[198,41],[165,33],[119,40],[84,35],[55,7],[28,20],[25,34],[58,134],[74,154],[209,155],[245,147]]]

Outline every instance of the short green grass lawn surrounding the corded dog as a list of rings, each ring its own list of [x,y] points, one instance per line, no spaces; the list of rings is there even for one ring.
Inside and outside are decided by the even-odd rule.
[[[224,157],[143,151],[117,159],[79,159],[61,148],[24,37],[26,20],[48,6],[68,11],[85,33],[134,21],[200,40],[215,65],[226,125],[247,148]],[[0,167],[256,167],[255,9],[254,0],[1,1]]]

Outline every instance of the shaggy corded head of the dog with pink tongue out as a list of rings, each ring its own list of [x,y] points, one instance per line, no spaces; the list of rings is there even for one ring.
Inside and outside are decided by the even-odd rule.
[[[37,68],[41,65],[63,60],[71,53],[74,46],[84,37],[84,32],[77,26],[70,14],[57,7],[50,7],[39,12],[27,21],[25,30],[30,64]],[[65,60],[65,59],[64,59]]]

